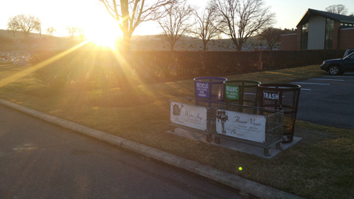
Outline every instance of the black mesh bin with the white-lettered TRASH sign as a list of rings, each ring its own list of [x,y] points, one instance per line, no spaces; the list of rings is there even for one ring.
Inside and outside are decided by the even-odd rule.
[[[282,142],[292,142],[295,130],[297,104],[301,86],[295,84],[259,84],[259,107],[283,110],[284,133]]]

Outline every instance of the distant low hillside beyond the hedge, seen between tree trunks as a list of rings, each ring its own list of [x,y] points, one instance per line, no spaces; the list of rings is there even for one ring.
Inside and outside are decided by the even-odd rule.
[[[79,36],[74,40],[69,37],[51,37],[39,33],[30,33],[25,39],[21,31],[16,31],[15,39],[13,33],[9,30],[0,29],[0,50],[62,50],[73,47],[81,42]],[[175,50],[202,50],[202,40],[198,38],[183,36],[175,45]],[[131,40],[132,50],[170,50],[169,42],[163,35],[133,35]],[[275,49],[280,48],[280,45]],[[257,36],[249,38],[244,44],[242,50],[266,50],[267,45],[264,40]],[[210,40],[207,50],[211,51],[234,51],[236,47],[231,39]]]

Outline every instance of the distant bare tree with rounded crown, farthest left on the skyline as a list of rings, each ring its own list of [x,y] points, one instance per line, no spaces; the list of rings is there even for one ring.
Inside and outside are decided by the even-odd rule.
[[[13,18],[9,19],[8,25],[13,25],[13,28],[16,28],[16,30],[21,30],[23,35],[25,35],[25,38],[28,38],[29,33],[33,30],[41,32],[40,19],[32,15],[21,14],[14,16]]]

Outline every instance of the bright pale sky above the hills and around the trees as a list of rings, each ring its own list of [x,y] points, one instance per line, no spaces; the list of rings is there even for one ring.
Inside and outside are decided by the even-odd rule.
[[[190,4],[203,7],[207,0],[188,0]],[[333,4],[343,4],[348,13],[354,13],[354,0],[264,0],[275,13],[275,28],[296,28],[308,8],[324,11]],[[67,36],[67,26],[84,29],[85,35],[121,34],[118,23],[108,14],[99,0],[0,0],[0,29],[6,30],[8,18],[19,14],[30,14],[40,18],[42,33],[54,27],[56,36]],[[161,29],[154,23],[142,23],[133,35],[154,35]]]

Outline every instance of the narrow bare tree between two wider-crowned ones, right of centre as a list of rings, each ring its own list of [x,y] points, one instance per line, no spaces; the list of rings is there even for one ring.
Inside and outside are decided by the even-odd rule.
[[[216,16],[215,4],[212,4],[211,1],[207,3],[203,11],[195,11],[197,28],[193,33],[202,40],[203,51],[207,50],[207,42],[220,34],[219,23],[215,20]]]

